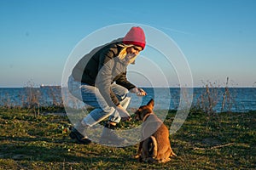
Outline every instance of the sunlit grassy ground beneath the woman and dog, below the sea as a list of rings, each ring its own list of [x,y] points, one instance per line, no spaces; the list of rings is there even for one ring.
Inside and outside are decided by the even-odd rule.
[[[160,112],[160,111],[155,111]],[[76,144],[67,116],[0,109],[0,169],[253,169],[256,167],[256,111],[207,116],[191,111],[171,136],[177,157],[166,164],[138,162],[137,144],[114,148]],[[169,111],[171,126],[175,111]],[[125,122],[136,126],[137,122]]]

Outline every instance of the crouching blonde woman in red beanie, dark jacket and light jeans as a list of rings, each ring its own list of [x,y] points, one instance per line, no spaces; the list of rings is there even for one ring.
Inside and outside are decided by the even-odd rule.
[[[91,141],[84,133],[84,129],[109,116],[101,142],[127,142],[113,130],[121,120],[131,120],[126,111],[131,100],[127,94],[131,92],[137,96],[146,95],[142,88],[137,88],[126,78],[127,65],[135,63],[137,55],[145,45],[143,29],[131,27],[125,37],[93,49],[75,65],[68,80],[68,89],[73,96],[95,109],[72,129],[72,139],[77,139],[80,144],[90,144]]]

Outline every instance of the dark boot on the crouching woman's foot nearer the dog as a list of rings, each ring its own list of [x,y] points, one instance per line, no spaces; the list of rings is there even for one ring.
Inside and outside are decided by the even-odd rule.
[[[100,144],[128,144],[126,139],[119,137],[118,134],[114,132],[115,129],[116,126],[106,123],[102,132]]]

